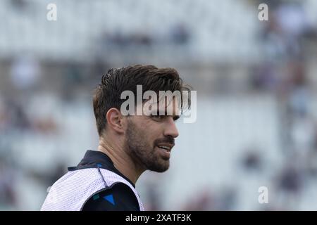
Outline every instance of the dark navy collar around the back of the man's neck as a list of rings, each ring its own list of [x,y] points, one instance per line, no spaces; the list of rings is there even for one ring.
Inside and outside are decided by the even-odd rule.
[[[102,169],[108,169],[111,172],[114,172],[118,174],[119,176],[122,176],[124,179],[129,181],[130,184],[135,188],[135,184],[130,181],[125,175],[123,175],[116,167],[114,167],[113,162],[111,159],[106,155],[105,153],[102,153],[101,151],[97,150],[87,150],[85,153],[84,158],[80,161],[80,163],[77,165],[77,167],[68,167],[68,171],[74,171],[77,169],[87,169],[87,168],[102,168]]]

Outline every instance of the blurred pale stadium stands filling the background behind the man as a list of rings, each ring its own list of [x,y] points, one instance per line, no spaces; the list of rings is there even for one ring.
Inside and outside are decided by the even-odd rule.
[[[49,0],[0,1],[0,210],[39,210],[97,148],[92,90],[131,63],[198,95],[168,172],[137,184],[148,210],[317,210],[317,2],[263,1],[262,22],[261,2],[56,0],[48,21]]]

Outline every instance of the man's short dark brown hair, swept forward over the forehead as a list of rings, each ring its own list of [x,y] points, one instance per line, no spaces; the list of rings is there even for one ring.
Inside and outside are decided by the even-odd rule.
[[[173,68],[156,68],[154,65],[129,65],[125,68],[112,68],[102,76],[101,84],[94,91],[94,116],[99,136],[106,127],[106,113],[111,108],[120,110],[125,99],[120,99],[123,91],[132,91],[137,94],[137,85],[142,85],[142,94],[151,90],[159,91],[188,91],[190,107],[189,85],[183,84],[177,70]],[[183,107],[181,99],[181,107]]]

